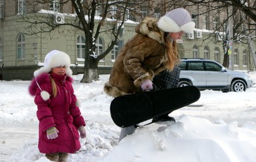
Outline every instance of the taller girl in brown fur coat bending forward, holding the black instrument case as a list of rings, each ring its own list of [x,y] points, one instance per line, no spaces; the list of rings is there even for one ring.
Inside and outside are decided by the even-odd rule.
[[[178,85],[180,69],[176,64],[180,56],[176,40],[194,28],[190,13],[182,8],[169,11],[160,19],[146,17],[120,50],[104,86],[106,94],[118,97]],[[156,120],[174,120],[168,114],[160,117]],[[134,130],[134,126],[122,128],[120,140]]]

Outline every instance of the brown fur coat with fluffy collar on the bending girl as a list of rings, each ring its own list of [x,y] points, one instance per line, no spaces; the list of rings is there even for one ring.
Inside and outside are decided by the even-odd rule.
[[[136,35],[124,44],[104,85],[107,95],[118,97],[139,92],[143,81],[152,80],[166,69],[164,31],[158,28],[157,21],[146,17],[136,26]]]

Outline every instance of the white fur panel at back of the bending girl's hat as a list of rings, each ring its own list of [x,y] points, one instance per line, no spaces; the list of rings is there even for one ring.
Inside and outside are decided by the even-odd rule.
[[[158,20],[158,28],[164,32],[180,32],[180,26],[167,16],[163,16]]]

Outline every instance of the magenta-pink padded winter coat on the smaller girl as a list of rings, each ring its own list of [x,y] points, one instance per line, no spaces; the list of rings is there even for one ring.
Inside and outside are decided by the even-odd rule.
[[[72,78],[51,73],[58,91],[57,97],[54,98],[49,75],[49,73],[42,73],[33,79],[29,86],[29,93],[35,96],[38,109],[39,151],[41,153],[75,153],[80,149],[78,128],[85,126],[85,122],[76,106],[76,96],[71,85]],[[41,97],[41,91],[47,91],[51,95],[50,99],[45,101]],[[53,126],[59,130],[59,137],[48,140],[46,131]]]

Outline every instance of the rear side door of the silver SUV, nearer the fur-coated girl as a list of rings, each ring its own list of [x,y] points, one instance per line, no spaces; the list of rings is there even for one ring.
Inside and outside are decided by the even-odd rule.
[[[206,71],[203,69],[203,62],[189,61],[188,76],[192,78],[193,85],[204,87],[206,85]]]

